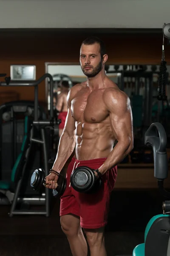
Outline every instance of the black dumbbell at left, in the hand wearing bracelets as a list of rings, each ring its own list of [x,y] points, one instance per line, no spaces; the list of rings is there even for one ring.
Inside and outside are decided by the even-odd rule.
[[[45,185],[45,172],[43,169],[40,168],[35,170],[31,175],[31,187],[35,191],[38,191],[41,189],[43,184]],[[62,175],[59,175],[57,184],[58,184],[57,188],[53,189],[53,195],[61,196],[65,192],[66,179]]]

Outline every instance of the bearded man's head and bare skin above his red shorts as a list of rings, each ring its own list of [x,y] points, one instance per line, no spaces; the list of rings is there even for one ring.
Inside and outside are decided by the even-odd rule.
[[[78,160],[107,157],[99,167],[102,175],[133,149],[130,99],[106,76],[107,59],[104,55],[101,60],[98,44],[81,47],[80,63],[87,81],[72,87],[67,96],[68,114],[52,167],[58,172],[74,148]],[[57,175],[48,175],[46,187],[55,189],[57,180]]]

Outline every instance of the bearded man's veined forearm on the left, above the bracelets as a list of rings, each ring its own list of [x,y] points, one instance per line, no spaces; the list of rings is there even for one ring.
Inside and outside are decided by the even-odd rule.
[[[69,135],[67,131],[64,131],[59,140],[57,156],[52,169],[57,172],[61,172],[66,161],[73,153],[75,145],[75,135]]]

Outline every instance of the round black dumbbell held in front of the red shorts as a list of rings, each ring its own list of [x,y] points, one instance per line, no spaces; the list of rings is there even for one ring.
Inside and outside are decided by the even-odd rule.
[[[102,179],[96,177],[95,169],[79,166],[72,173],[70,183],[77,192],[95,193],[102,186]]]

